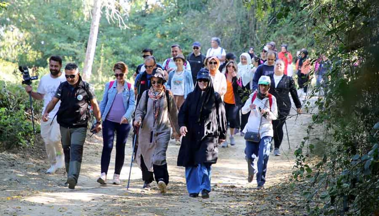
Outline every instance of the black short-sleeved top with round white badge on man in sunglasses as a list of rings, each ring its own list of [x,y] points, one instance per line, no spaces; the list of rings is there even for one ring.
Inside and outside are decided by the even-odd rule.
[[[79,76],[78,85],[73,88],[67,81],[62,82],[55,97],[61,100],[56,120],[66,128],[88,126],[88,104],[95,98],[92,87]]]

